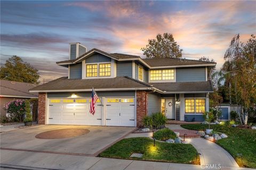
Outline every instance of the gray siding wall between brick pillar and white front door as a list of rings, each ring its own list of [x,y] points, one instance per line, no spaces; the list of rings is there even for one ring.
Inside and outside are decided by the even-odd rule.
[[[156,112],[161,112],[161,95],[160,94],[148,94],[148,115]]]

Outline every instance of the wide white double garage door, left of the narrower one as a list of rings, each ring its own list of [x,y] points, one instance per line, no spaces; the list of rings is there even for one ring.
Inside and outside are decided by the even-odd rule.
[[[98,99],[90,114],[90,98],[49,99],[49,124],[102,125],[102,106]]]

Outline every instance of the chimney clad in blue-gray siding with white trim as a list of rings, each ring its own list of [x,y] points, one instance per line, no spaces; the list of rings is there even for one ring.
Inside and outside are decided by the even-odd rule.
[[[87,47],[80,43],[69,43],[69,59],[73,60],[87,52]]]

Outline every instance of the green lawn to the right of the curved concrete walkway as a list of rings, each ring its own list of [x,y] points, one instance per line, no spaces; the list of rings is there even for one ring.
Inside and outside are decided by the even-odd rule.
[[[181,126],[190,130],[205,130],[208,127],[205,124],[186,124]],[[211,125],[210,128],[228,135],[228,138],[218,140],[216,143],[226,149],[236,159],[239,166],[242,166],[241,157],[237,156],[237,154],[242,153],[244,166],[256,168],[256,130],[232,128],[227,123]]]

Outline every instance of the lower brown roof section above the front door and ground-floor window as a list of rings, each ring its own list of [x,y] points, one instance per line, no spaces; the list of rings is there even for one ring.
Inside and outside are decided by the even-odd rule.
[[[159,82],[149,83],[153,87],[162,90],[166,93],[175,92],[213,92],[211,81],[201,82]]]

